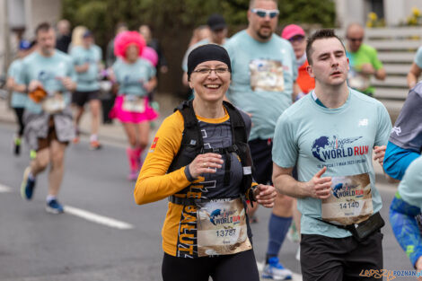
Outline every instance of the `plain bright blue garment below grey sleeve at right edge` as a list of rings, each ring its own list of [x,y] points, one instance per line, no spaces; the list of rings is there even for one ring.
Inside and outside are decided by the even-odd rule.
[[[409,164],[420,156],[418,152],[401,148],[388,142],[385,151],[383,168],[384,171],[396,180],[401,180]]]

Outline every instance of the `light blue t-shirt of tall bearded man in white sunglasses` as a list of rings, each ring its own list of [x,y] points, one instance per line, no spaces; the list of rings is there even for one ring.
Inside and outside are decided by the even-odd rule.
[[[272,138],[278,117],[292,104],[297,77],[292,45],[276,34],[262,43],[240,31],[224,47],[232,61],[227,98],[252,115],[250,140]]]

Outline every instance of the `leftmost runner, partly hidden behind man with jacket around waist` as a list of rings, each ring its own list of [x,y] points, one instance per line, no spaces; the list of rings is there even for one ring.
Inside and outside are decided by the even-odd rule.
[[[19,43],[19,50],[17,54],[17,58],[13,61],[13,63],[9,66],[7,70],[7,88],[13,91],[14,84],[18,80],[19,75],[21,75],[21,68],[22,68],[22,59],[31,54],[33,50],[34,44],[31,44],[27,40],[22,40]],[[21,143],[22,143],[22,136],[23,130],[25,125],[23,124],[23,111],[25,110],[26,102],[28,100],[28,95],[22,91],[13,91],[12,92],[12,101],[11,106],[16,114],[16,119],[18,120],[19,128],[14,136],[13,140],[13,153],[15,155],[21,154]]]

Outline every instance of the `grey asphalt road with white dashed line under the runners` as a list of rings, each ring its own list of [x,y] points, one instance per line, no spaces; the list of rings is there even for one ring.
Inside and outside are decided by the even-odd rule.
[[[34,198],[20,197],[22,172],[29,152],[21,157],[12,151],[13,127],[0,124],[0,280],[2,281],[115,281],[161,280],[161,228],[167,209],[165,200],[136,206],[134,183],[126,180],[124,145],[105,144],[90,151],[83,140],[66,151],[66,173],[59,199],[66,214],[45,212],[48,172],[37,179]],[[380,185],[388,218],[395,188]],[[258,211],[252,224],[257,260],[263,261],[268,238],[268,216]],[[413,269],[391,233],[383,228],[384,268]],[[297,244],[285,241],[280,259],[286,268],[300,273],[295,260]],[[397,277],[395,280],[414,280]],[[295,280],[301,280],[299,275]],[[384,278],[385,280],[385,278]]]

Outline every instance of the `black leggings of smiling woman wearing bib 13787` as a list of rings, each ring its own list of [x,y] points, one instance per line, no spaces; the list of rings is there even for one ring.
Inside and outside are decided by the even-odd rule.
[[[233,255],[177,258],[164,253],[163,281],[259,281],[253,250]]]

